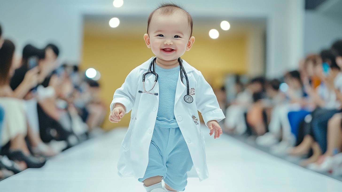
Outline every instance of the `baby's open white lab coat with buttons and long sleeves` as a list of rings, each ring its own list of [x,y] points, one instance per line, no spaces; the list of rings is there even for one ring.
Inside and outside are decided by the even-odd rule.
[[[110,111],[113,110],[115,103],[124,105],[126,113],[132,110],[128,131],[120,147],[120,158],[117,165],[120,177],[134,176],[135,178],[142,178],[148,164],[148,149],[156,122],[159,96],[141,94],[138,91],[144,90],[142,76],[147,72],[151,61],[152,58],[128,74],[122,86],[115,91],[113,101],[110,104]],[[200,111],[206,124],[210,120],[221,121],[225,117],[212,88],[204,79],[202,73],[184,60],[183,66],[188,76],[189,88],[195,88],[195,95],[192,95],[194,101],[191,104],[184,101],[183,98],[187,92],[186,81],[184,78],[184,85],[179,74],[174,102],[174,116],[189,148],[194,163],[193,168],[195,168],[199,180],[202,181],[209,177],[205,142],[203,132],[200,130],[200,124],[196,125],[192,116],[198,118],[198,111]],[[154,80],[154,75],[146,75],[146,90],[153,86]],[[158,82],[151,92],[159,92]]]

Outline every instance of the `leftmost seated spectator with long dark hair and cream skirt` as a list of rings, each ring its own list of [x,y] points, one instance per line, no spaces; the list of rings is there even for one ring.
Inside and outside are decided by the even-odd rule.
[[[13,98],[15,93],[10,88],[14,49],[10,40],[5,40],[0,49],[0,105],[4,108],[6,122],[1,135],[1,151],[10,159],[23,162],[22,169],[42,167],[46,160],[32,156],[25,142],[28,127],[24,101]]]

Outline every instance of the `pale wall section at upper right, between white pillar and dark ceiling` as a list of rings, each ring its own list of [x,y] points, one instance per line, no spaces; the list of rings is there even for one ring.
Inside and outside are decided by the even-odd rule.
[[[342,39],[342,18],[340,20],[338,22],[318,12],[306,11],[305,54],[319,53],[322,49],[330,48],[333,41]]]

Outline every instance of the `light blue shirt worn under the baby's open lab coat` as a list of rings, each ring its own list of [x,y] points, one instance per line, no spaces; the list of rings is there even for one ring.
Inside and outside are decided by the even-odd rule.
[[[172,69],[164,69],[156,64],[156,73],[158,74],[159,84],[159,107],[156,125],[159,127],[178,127],[173,109],[179,71],[180,66]]]

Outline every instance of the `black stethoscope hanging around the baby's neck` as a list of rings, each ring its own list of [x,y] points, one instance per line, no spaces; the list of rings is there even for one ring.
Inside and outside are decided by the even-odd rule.
[[[158,93],[151,93],[152,89],[154,88],[154,86],[156,85],[156,83],[158,81],[158,74],[155,72],[156,71],[156,67],[155,67],[156,59],[157,59],[157,57],[152,59],[150,65],[148,67],[148,71],[143,74],[143,88],[144,88],[144,91],[139,90],[139,93],[147,93],[147,94],[151,94],[151,95],[158,95]],[[186,89],[187,90],[186,90],[186,95],[184,96],[184,101],[186,103],[192,103],[194,99],[190,95],[189,80],[188,80],[188,76],[186,75],[185,69],[183,67],[182,59],[178,58],[178,62],[179,62],[180,68],[181,68],[181,81],[182,81],[182,83],[184,84],[184,82],[183,82],[183,78],[184,77],[185,77],[185,80],[186,80]],[[153,65],[153,71],[151,70],[152,69],[152,65]],[[155,75],[156,79],[154,80],[154,85],[152,86],[152,88],[149,91],[146,91],[146,89],[145,89],[145,76],[147,74],[150,74],[150,73]],[[184,73],[184,76],[183,76],[183,73]]]

